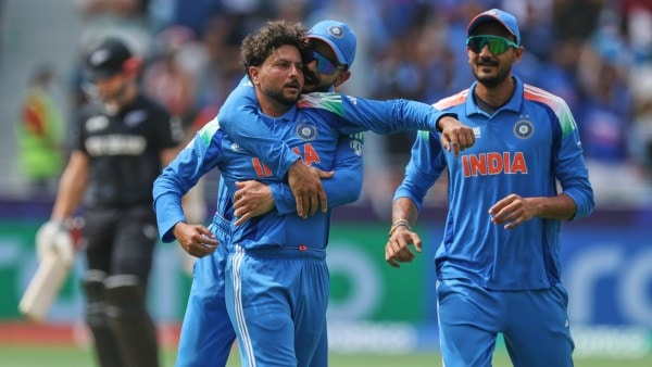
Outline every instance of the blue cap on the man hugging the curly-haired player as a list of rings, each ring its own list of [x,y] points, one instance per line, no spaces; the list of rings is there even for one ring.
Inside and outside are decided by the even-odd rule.
[[[306,38],[321,39],[328,43],[337,61],[351,68],[355,60],[358,37],[348,24],[337,21],[322,21],[308,31]]]

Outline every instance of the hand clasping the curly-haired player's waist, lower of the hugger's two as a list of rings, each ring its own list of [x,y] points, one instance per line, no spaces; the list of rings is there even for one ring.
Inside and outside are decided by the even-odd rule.
[[[274,198],[267,185],[249,180],[236,182],[236,186],[238,187],[234,203],[234,214],[238,217],[236,226],[274,208]]]

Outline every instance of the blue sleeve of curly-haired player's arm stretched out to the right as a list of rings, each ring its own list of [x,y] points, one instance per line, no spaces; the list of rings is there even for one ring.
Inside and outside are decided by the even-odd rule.
[[[437,131],[437,122],[443,116],[457,117],[430,104],[404,99],[378,101],[338,93],[302,96],[299,107],[316,107],[338,115],[334,123],[340,134],[371,130],[388,135],[403,130]]]

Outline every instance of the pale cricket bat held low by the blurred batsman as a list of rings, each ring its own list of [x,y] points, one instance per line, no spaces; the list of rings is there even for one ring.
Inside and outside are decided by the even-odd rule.
[[[71,267],[72,264],[62,261],[57,251],[49,251],[29,281],[29,286],[18,303],[18,311],[30,320],[45,321]]]

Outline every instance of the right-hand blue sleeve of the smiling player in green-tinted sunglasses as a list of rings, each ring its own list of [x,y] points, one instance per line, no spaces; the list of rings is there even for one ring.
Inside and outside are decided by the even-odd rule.
[[[573,218],[589,216],[595,206],[589,170],[582,155],[581,141],[575,118],[565,102],[560,102],[556,113],[559,125],[555,131],[553,167],[562,191],[577,206]]]

